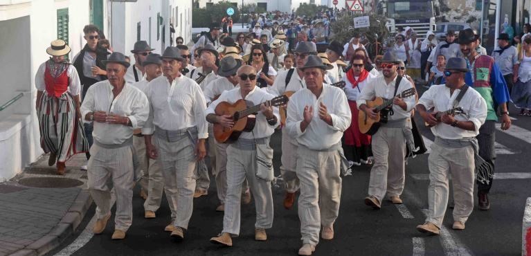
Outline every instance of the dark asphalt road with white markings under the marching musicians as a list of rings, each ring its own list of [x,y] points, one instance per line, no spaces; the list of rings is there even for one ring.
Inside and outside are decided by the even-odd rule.
[[[515,109],[511,109],[516,113]],[[501,152],[496,160],[496,173],[504,175],[494,181],[491,194],[491,210],[476,208],[466,223],[466,230],[451,230],[453,219],[448,209],[440,236],[426,236],[415,226],[424,223],[423,210],[429,181],[427,155],[409,159],[406,165],[406,189],[404,205],[397,207],[384,201],[381,210],[372,210],[363,204],[368,191],[370,166],[354,169],[352,176],[343,178],[341,208],[332,241],[321,241],[314,255],[521,255],[521,221],[525,199],[531,196],[530,169],[525,167],[531,158],[531,117],[512,115],[517,118],[513,125],[521,129],[514,132],[497,131],[496,142]],[[420,121],[418,122],[420,123]],[[433,140],[428,129],[421,127],[422,134]],[[510,130],[511,131],[511,130]],[[276,172],[280,165],[280,133],[273,136]],[[520,173],[520,174],[513,174]],[[505,179],[509,176],[526,179]],[[277,173],[278,175],[278,173]],[[510,177],[509,177],[510,178]],[[300,222],[297,207],[282,207],[284,190],[273,187],[275,216],[273,228],[267,230],[268,241],[254,241],[254,201],[242,205],[240,237],[233,239],[232,248],[210,244],[210,237],[222,230],[223,213],[215,212],[218,205],[215,183],[211,183],[208,196],[194,201],[194,213],[185,239],[176,242],[163,228],[170,221],[170,210],[163,200],[156,219],[143,218],[143,200],[134,196],[134,220],[123,241],[111,241],[114,223],[109,224],[102,235],[91,235],[94,206],[89,210],[80,230],[49,255],[296,255],[301,246]],[[476,204],[477,204],[477,198]],[[114,216],[113,216],[114,218]],[[112,219],[112,218],[111,218]],[[87,229],[85,230],[85,227]],[[64,253],[64,254],[63,254]]]

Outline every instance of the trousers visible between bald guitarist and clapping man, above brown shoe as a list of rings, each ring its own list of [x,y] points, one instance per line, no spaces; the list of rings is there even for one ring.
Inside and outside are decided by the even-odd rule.
[[[287,129],[282,129],[282,156],[280,161],[280,174],[286,183],[286,192],[295,193],[300,188],[300,181],[296,174],[297,142],[289,136]]]

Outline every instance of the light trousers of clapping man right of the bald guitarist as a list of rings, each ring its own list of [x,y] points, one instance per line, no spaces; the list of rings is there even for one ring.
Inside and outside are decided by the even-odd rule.
[[[303,145],[298,146],[296,154],[301,239],[303,244],[316,245],[321,226],[333,226],[339,215],[341,156],[337,150],[319,152]]]

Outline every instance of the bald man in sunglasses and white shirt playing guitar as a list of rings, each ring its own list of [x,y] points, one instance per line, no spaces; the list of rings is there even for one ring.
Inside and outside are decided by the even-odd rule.
[[[235,142],[227,147],[227,194],[225,199],[225,214],[222,233],[210,239],[214,244],[232,246],[231,236],[240,235],[240,196],[244,179],[249,180],[253,190],[256,208],[255,240],[267,240],[265,230],[273,225],[273,195],[271,194],[271,181],[258,178],[258,148],[270,150],[273,159],[273,149],[269,148],[269,137],[275,132],[280,117],[278,108],[271,107],[266,102],[274,98],[273,95],[256,86],[256,70],[253,66],[242,66],[237,75],[240,87],[225,91],[221,96],[208,106],[206,120],[217,123],[223,127],[233,127],[233,118],[228,115],[215,114],[217,105],[221,102],[233,104],[237,100],[245,100],[249,105],[260,105],[256,113],[256,123],[252,131],[242,131]],[[260,156],[262,156],[261,154]],[[260,158],[262,160],[262,158]],[[271,169],[272,172],[272,169]]]

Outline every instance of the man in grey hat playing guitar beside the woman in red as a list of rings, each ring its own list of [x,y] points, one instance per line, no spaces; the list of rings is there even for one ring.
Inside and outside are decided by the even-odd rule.
[[[395,204],[402,203],[400,195],[404,190],[406,142],[413,136],[408,122],[411,122],[411,109],[415,107],[414,97],[395,98],[395,95],[402,91],[413,88],[405,77],[398,76],[398,60],[395,54],[388,51],[381,59],[381,63],[383,75],[371,80],[363,88],[356,102],[360,111],[365,111],[368,118],[375,119],[382,112],[367,107],[367,101],[374,100],[375,97],[394,98],[393,104],[390,105],[394,113],[388,115],[384,113],[384,116],[388,116],[388,121],[380,122],[381,127],[372,136],[372,154],[375,163],[370,170],[369,195],[365,203],[375,209],[381,208],[381,200],[384,199],[386,192],[390,201]]]

